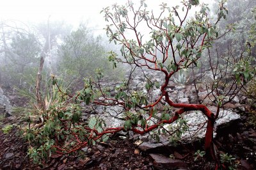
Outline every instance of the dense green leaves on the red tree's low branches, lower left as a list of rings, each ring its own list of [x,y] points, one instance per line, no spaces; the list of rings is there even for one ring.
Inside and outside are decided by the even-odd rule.
[[[96,141],[108,141],[108,133],[100,135],[101,138],[95,137],[106,126],[101,118],[92,117],[87,122],[81,121],[80,103],[89,104],[93,100],[90,79],[85,81],[84,89],[70,98],[66,89],[59,86],[61,81],[52,78],[51,95],[45,99],[48,101],[46,110],[35,110],[28,114],[28,127],[23,129],[24,138],[30,144],[29,157],[36,164],[52,154],[70,153]],[[59,144],[63,148],[59,148]],[[72,147],[74,149],[70,150]]]

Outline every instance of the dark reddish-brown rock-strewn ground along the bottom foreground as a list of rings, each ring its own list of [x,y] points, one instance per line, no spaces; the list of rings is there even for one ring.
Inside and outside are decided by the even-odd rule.
[[[14,124],[17,118],[3,121],[1,128]],[[221,129],[214,140],[220,153],[234,157],[230,166],[234,169],[256,168],[256,131],[246,126],[246,116],[228,129]],[[108,143],[83,148],[79,153],[69,156],[51,157],[35,165],[26,156],[27,146],[19,137],[17,128],[8,134],[0,131],[0,169],[215,169],[216,163],[198,157],[196,150],[203,150],[202,144],[180,144],[169,147],[160,144],[156,148],[143,149],[134,141],[113,136]]]

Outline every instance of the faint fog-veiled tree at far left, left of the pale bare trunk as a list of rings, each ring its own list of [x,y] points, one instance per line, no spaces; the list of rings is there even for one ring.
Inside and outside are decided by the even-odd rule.
[[[29,75],[35,77],[36,66],[38,65],[38,54],[40,46],[35,35],[17,33],[12,37],[10,50],[6,50],[8,58],[3,67],[6,82],[12,82],[16,86],[21,86],[29,81]]]

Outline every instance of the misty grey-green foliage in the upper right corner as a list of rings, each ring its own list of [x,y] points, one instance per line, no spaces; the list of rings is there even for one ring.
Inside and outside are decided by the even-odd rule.
[[[217,6],[218,4],[216,4]],[[223,53],[221,51],[232,50],[236,56],[239,55],[241,51],[244,50],[244,45],[249,40],[250,37],[250,27],[253,22],[253,7],[256,3],[254,0],[244,0],[237,4],[236,0],[227,1],[226,8],[228,10],[227,19],[220,21],[220,29],[225,30],[227,24],[234,27],[236,31],[224,36],[218,43],[220,55]],[[229,47],[228,47],[229,46]]]

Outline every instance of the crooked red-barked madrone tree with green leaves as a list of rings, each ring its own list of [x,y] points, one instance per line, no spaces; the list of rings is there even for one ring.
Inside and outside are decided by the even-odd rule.
[[[158,15],[147,11],[144,0],[140,1],[137,10],[132,1],[122,6],[114,4],[111,8],[104,8],[101,13],[109,22],[106,27],[109,41],[120,44],[122,54],[119,57],[115,52],[109,52],[109,61],[113,62],[113,66],[126,63],[141,68],[141,72],[159,72],[163,75],[160,77],[162,81],[148,79],[143,87],[147,93],[144,93],[143,89],[136,91],[131,88],[131,81],[127,79],[114,87],[113,95],[101,84],[102,73],[97,70],[97,80],[84,79],[84,88],[70,94],[60,87],[58,79],[52,77],[52,98],[44,110],[36,112],[40,115],[40,123],[36,124],[29,117],[29,126],[25,129],[26,139],[31,143],[31,158],[38,162],[40,158],[47,158],[53,153],[55,156],[72,153],[84,146],[107,141],[110,135],[120,131],[131,130],[141,135],[161,132],[159,129],[163,125],[179,120],[180,115],[188,111],[202,111],[206,116],[205,151],[209,157],[214,157],[212,138],[219,111],[211,112],[203,104],[175,103],[167,87],[177,72],[196,66],[204,49],[211,47],[214,39],[221,36],[216,31],[216,24],[227,13],[223,3],[220,3],[215,21],[208,17],[209,8],[198,0],[184,0],[180,7],[173,8],[163,3]],[[195,8],[199,10],[191,17],[189,12]],[[237,80],[249,79],[244,74],[247,73],[239,72]],[[233,78],[236,79],[235,75]],[[234,83],[240,86],[241,82]],[[161,91],[156,100],[148,97],[148,91],[153,88]],[[218,104],[221,105],[221,101]],[[83,105],[93,110],[97,105],[122,107],[124,125],[106,127],[100,115],[91,115],[84,122],[81,120]],[[156,116],[157,105],[168,105],[176,110],[163,112],[159,118]]]

